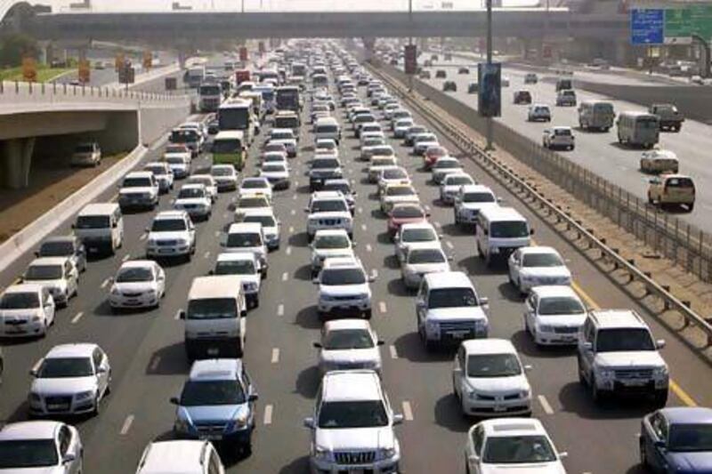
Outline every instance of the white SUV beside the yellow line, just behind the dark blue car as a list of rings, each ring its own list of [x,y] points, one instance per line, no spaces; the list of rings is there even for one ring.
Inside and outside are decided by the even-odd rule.
[[[669,374],[658,352],[664,346],[632,309],[591,311],[578,333],[578,380],[595,402],[606,394],[631,394],[665,406]]]

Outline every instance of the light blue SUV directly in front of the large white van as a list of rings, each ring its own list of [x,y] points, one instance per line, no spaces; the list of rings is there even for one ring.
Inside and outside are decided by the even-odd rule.
[[[198,360],[190,368],[177,406],[174,433],[179,438],[207,439],[252,452],[257,393],[241,359]]]

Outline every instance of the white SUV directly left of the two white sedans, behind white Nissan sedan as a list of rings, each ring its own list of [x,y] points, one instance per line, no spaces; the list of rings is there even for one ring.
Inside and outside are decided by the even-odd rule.
[[[425,349],[433,349],[436,343],[457,345],[466,339],[486,338],[487,308],[487,298],[478,296],[465,273],[425,275],[416,298],[417,332]]]

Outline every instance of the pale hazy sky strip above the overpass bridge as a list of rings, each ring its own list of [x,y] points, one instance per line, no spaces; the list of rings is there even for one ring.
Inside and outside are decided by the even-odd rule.
[[[77,0],[40,0],[38,3],[53,4],[55,10],[67,11],[69,4]],[[174,1],[190,5],[196,10],[239,10],[243,0],[92,0],[96,11],[166,11]],[[481,8],[483,0],[413,0],[415,10],[439,8],[441,2],[451,2],[455,10]],[[244,0],[247,11],[349,11],[349,10],[407,10],[408,0],[362,0],[345,2],[335,7],[333,0]],[[538,0],[504,0],[506,6],[527,6]],[[59,7],[59,8],[58,8]]]

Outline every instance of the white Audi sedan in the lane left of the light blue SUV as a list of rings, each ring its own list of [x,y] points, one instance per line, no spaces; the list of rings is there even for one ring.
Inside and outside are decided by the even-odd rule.
[[[109,357],[96,344],[54,346],[33,368],[29,413],[36,416],[98,414],[109,394]]]

